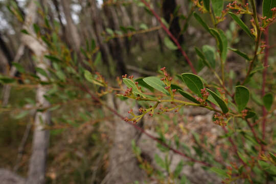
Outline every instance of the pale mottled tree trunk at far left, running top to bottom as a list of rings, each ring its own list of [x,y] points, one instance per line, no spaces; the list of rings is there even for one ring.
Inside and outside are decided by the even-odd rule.
[[[37,57],[36,66],[47,71],[50,63],[44,59],[44,54],[47,52],[47,48],[42,42],[35,39],[35,34],[32,30],[32,25],[37,18],[37,7],[35,0],[32,0],[28,7],[28,15],[26,15],[26,21],[24,29],[28,30],[31,35],[22,35],[22,42],[30,48]],[[41,81],[47,81],[48,79],[40,74],[37,74]],[[50,106],[50,103],[44,98],[47,93],[47,87],[38,85],[36,91],[36,106],[44,109]],[[41,184],[45,182],[45,167],[47,159],[47,149],[49,144],[49,130],[45,130],[44,126],[50,123],[50,112],[36,112],[34,121],[34,134],[32,143],[32,155],[29,162],[28,171],[28,184]]]

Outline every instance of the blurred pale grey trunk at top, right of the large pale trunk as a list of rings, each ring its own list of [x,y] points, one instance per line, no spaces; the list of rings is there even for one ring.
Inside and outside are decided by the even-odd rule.
[[[74,21],[71,16],[70,4],[71,4],[71,1],[61,0],[63,13],[66,19],[66,30],[65,30],[66,36],[74,51],[78,53],[81,46],[81,40],[78,33],[78,29],[74,24]]]

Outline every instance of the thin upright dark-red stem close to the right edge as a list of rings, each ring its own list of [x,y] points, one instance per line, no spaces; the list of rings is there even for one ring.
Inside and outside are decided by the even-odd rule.
[[[264,35],[265,35],[265,44],[269,45],[269,38],[268,38],[268,29],[269,27],[266,28]],[[265,96],[265,81],[266,81],[266,73],[267,73],[267,66],[268,66],[268,55],[269,55],[269,47],[267,46],[267,48],[265,49],[265,57],[264,57],[264,70],[263,70],[263,84],[262,84],[262,97]],[[265,106],[263,105],[262,107],[263,109],[263,122],[262,122],[262,132],[263,132],[263,136],[262,139],[265,139],[265,123],[266,123],[266,114],[267,111],[265,109]],[[262,146],[262,150],[264,151],[264,146]]]

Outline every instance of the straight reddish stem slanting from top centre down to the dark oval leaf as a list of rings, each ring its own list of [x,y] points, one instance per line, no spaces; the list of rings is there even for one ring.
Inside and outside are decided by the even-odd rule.
[[[158,22],[160,23],[160,25],[162,26],[162,28],[164,29],[164,31],[170,36],[170,38],[176,44],[177,48],[179,49],[179,51],[181,52],[181,54],[185,57],[187,63],[191,67],[191,70],[192,70],[193,74],[196,74],[196,70],[195,70],[195,68],[193,66],[193,63],[191,62],[191,60],[187,56],[186,52],[183,51],[183,49],[181,48],[181,45],[179,44],[179,42],[177,41],[177,39],[172,35],[172,33],[170,32],[170,30],[163,24],[163,22],[162,22],[161,18],[159,17],[159,15],[157,15],[157,13],[150,7],[150,5],[145,0],[141,0],[141,1],[151,11],[151,13],[156,17],[156,19],[158,20]]]

